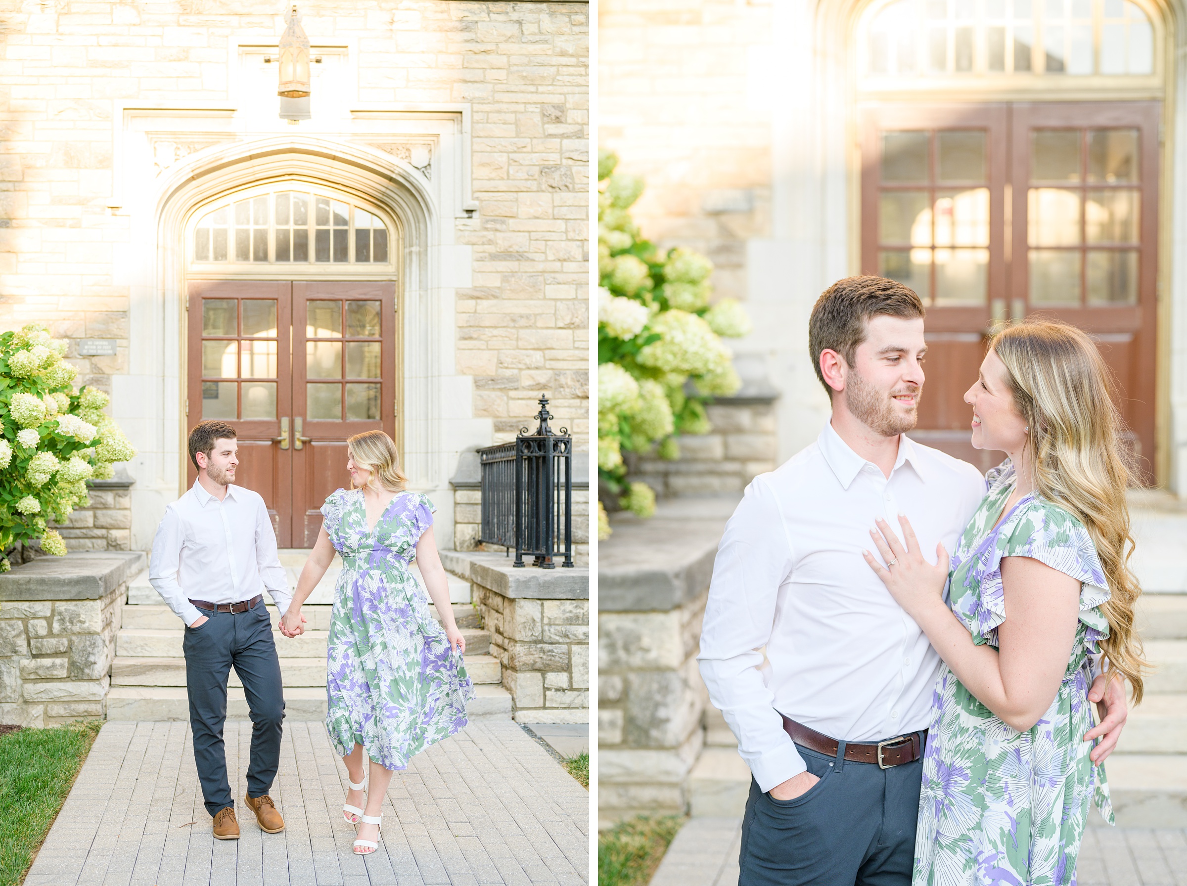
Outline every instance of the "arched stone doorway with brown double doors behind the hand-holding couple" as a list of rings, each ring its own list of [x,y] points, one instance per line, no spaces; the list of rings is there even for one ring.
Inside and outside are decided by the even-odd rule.
[[[404,382],[410,359],[432,362],[424,330],[442,319],[426,279],[431,203],[391,158],[355,149],[343,162],[350,149],[334,147],[237,145],[239,158],[173,176],[161,202],[163,288],[182,308],[186,483],[189,429],[234,423],[239,482],[265,497],[283,548],[316,540],[320,503],[348,483],[350,434],[381,428],[405,453],[405,409],[434,400],[432,378]],[[414,439],[432,434],[410,425]]]

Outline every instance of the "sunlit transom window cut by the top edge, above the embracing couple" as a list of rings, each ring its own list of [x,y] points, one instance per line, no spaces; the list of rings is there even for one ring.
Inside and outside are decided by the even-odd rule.
[[[1129,0],[896,0],[867,40],[875,76],[1154,72],[1154,28]]]

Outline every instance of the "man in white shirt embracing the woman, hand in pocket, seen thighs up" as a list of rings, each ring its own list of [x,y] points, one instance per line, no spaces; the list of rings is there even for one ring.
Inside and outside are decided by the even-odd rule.
[[[906,886],[940,658],[862,552],[874,521],[897,528],[899,514],[922,550],[953,550],[985,483],[903,435],[927,350],[914,292],[838,281],[812,311],[808,349],[832,420],[747,487],[718,547],[698,656],[754,776],[738,882]],[[1107,733],[1097,760],[1125,719],[1118,683],[1106,707],[1090,733]]]

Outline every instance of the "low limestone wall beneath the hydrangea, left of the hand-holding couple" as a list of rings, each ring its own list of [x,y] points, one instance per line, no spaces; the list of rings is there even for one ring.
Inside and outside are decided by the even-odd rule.
[[[68,554],[0,575],[0,722],[106,715],[127,581],[144,566],[144,554]]]

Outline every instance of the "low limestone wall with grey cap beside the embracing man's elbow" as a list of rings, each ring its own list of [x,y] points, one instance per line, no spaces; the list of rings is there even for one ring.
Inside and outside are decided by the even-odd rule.
[[[737,497],[611,515],[598,548],[598,818],[684,815],[705,746],[697,669],[713,559]]]

